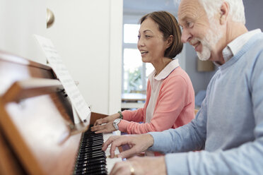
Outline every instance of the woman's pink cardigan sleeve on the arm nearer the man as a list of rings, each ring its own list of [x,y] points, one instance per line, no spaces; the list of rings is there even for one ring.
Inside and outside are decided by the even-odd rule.
[[[189,84],[182,76],[173,76],[163,82],[150,123],[122,120],[119,130],[130,134],[164,131],[172,128],[182,109],[187,105]],[[194,116],[193,116],[194,117]]]

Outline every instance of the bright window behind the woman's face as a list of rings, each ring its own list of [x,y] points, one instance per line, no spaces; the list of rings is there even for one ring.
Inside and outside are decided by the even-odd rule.
[[[141,54],[137,49],[138,24],[124,24],[123,37],[123,75],[122,92],[146,92],[148,75],[153,71],[151,64],[141,61]]]

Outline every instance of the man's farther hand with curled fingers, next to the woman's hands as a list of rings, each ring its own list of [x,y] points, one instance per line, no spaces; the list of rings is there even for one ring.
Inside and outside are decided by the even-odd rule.
[[[116,147],[122,145],[129,145],[130,149],[124,152],[119,153],[117,157],[131,157],[140,152],[144,152],[153,145],[153,137],[151,134],[140,134],[140,135],[121,135],[121,136],[112,136],[104,144],[103,150],[105,151],[107,147],[111,144],[110,147],[110,157],[115,157]]]

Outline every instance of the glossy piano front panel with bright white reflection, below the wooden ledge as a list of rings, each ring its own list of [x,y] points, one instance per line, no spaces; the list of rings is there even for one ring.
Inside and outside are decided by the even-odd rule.
[[[0,123],[30,174],[71,174],[81,134],[71,135],[57,95],[11,102],[1,109]],[[54,104],[53,99],[57,101]],[[4,113],[4,114],[3,114]]]

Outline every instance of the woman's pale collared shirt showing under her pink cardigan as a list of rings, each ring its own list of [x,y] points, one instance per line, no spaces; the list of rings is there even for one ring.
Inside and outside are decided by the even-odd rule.
[[[154,107],[156,106],[156,100],[159,95],[160,86],[163,83],[163,80],[169,76],[169,74],[177,68],[177,66],[180,66],[178,63],[178,59],[174,59],[173,61],[170,61],[170,63],[163,68],[162,71],[155,77],[156,70],[154,70],[149,76],[148,80],[150,80],[151,84],[151,97],[148,102],[148,106],[146,108],[146,123],[150,123],[151,119],[153,118],[153,111]]]

